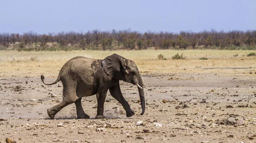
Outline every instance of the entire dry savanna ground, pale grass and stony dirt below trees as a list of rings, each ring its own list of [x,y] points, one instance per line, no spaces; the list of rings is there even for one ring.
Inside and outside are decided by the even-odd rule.
[[[256,142],[256,56],[253,50],[0,51],[0,143],[49,142]],[[104,59],[113,53],[132,59],[142,74],[146,109],[137,87],[120,87],[136,114],[125,111],[108,93],[107,119],[96,120],[96,97],[82,98],[90,119],[76,119],[71,104],[54,120],[47,109],[62,99],[55,81],[74,56]],[[183,53],[184,60],[172,56]],[[164,55],[166,60],[157,58]],[[205,57],[207,60],[200,60]]]

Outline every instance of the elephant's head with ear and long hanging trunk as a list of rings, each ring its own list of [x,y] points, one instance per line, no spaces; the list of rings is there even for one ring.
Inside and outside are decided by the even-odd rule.
[[[142,107],[142,112],[140,115],[143,115],[145,112],[143,81],[140,77],[138,67],[134,61],[125,59],[124,57],[117,54],[113,54],[111,56],[107,56],[102,61],[102,67],[112,79],[122,80],[137,85]]]

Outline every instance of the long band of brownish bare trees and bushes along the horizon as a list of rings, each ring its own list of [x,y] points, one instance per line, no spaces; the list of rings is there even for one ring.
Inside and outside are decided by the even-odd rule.
[[[75,49],[196,49],[241,48],[255,49],[256,30],[248,31],[180,31],[145,32],[121,30],[59,32],[37,34],[34,31],[18,33],[0,33],[0,49],[18,50],[69,50]]]

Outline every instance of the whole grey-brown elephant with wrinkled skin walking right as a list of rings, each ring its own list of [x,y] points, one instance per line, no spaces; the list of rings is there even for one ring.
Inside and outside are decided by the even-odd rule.
[[[44,83],[43,75],[41,75],[41,80]],[[96,94],[98,104],[96,119],[105,118],[104,102],[109,90],[113,98],[122,104],[126,117],[131,117],[134,112],[121,93],[119,86],[121,80],[134,85],[138,83],[140,87],[143,87],[137,65],[129,59],[117,54],[107,56],[103,60],[83,56],[74,57],[63,65],[56,81],[51,84],[44,83],[52,85],[61,81],[63,84],[63,100],[60,104],[47,109],[47,113],[53,119],[62,108],[75,103],[77,118],[90,118],[82,108],[81,98]],[[144,92],[139,87],[138,90],[142,107],[140,115],[143,115],[145,112]]]

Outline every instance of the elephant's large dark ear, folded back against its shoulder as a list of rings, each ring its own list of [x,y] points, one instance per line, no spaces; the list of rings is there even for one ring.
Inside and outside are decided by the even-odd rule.
[[[102,61],[102,67],[109,76],[120,79],[122,78],[122,64],[125,63],[125,61],[127,61],[127,59],[114,53],[111,56],[107,56]]]

